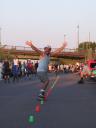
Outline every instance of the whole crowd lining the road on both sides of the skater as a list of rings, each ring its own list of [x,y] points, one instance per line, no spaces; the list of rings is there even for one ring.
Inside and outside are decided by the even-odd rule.
[[[19,61],[17,57],[13,59],[13,61],[9,61],[5,59],[0,62],[0,80],[4,80],[5,82],[10,83],[11,81],[15,82],[20,80],[21,78],[27,77],[31,78],[32,75],[36,76],[38,68],[38,61],[32,62],[31,60],[27,61]],[[79,65],[72,64],[49,64],[49,72],[58,72],[68,73],[68,72],[77,72],[80,70]]]

